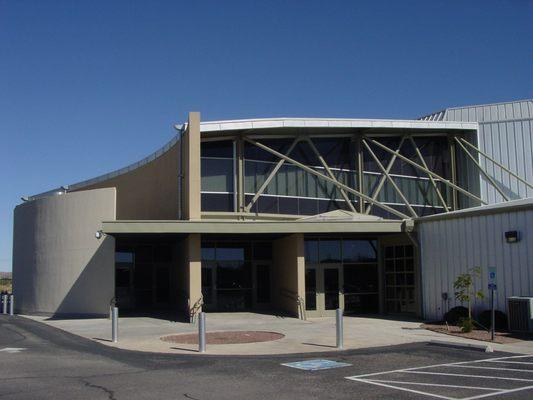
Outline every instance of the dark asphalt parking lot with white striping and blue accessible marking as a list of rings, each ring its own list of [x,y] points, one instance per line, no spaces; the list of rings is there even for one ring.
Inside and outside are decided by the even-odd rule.
[[[141,353],[8,316],[0,316],[0,368],[2,399],[533,397],[533,356],[427,343],[275,356]]]

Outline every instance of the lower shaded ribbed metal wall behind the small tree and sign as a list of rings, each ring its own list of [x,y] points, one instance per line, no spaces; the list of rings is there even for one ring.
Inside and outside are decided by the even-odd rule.
[[[532,228],[532,209],[419,221],[424,317],[440,319],[448,309],[460,305],[454,298],[453,282],[457,275],[475,266],[483,269],[476,288],[487,295],[487,267],[496,267],[499,310],[506,311],[509,296],[532,296]],[[510,230],[520,232],[518,243],[505,241],[504,232]],[[448,302],[442,299],[442,293],[448,293]],[[477,301],[474,309],[479,312],[488,307],[486,299]]]

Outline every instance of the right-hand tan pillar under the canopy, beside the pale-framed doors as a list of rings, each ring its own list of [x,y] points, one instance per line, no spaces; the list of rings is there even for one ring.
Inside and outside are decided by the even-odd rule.
[[[293,234],[273,242],[273,303],[291,315],[302,318],[297,298],[305,299],[305,252],[303,234]],[[302,304],[305,310],[305,304]]]

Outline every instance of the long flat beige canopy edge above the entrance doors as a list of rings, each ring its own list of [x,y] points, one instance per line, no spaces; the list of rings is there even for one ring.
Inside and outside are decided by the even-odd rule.
[[[379,221],[104,221],[102,231],[113,234],[150,233],[399,233],[405,231],[402,220]]]

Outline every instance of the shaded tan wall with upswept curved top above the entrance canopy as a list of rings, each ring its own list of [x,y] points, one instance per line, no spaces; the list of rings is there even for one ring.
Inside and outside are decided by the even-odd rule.
[[[117,219],[177,219],[179,141],[153,161],[79,191],[117,190]]]

